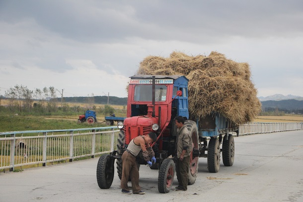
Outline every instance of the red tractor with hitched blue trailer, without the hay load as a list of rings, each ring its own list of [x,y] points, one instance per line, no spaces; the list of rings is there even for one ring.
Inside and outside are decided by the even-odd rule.
[[[234,157],[234,142],[229,132],[238,128],[224,116],[214,114],[205,123],[208,128],[199,128],[199,120],[188,120],[188,79],[184,76],[135,75],[131,77],[128,89],[127,117],[118,123],[120,128],[117,150],[102,155],[97,164],[97,183],[101,189],[110,188],[114,178],[114,161],[117,159],[118,177],[122,176],[122,154],[130,141],[149,132],[157,134],[156,142],[151,144],[156,163],[151,169],[158,169],[158,191],[168,193],[175,175],[176,124],[174,118],[183,116],[185,126],[190,132],[193,150],[190,154],[188,184],[194,184],[198,172],[199,157],[208,158],[210,172],[218,172],[220,166],[220,144],[223,140],[224,164],[231,166]],[[201,121],[201,119],[200,119]],[[202,120],[204,122],[204,120]],[[208,125],[208,124],[204,124]],[[224,136],[223,134],[227,134]],[[219,138],[217,138],[219,136]],[[211,137],[207,146],[207,137]],[[205,153],[206,151],[207,154]],[[136,157],[138,169],[146,165],[142,151]]]

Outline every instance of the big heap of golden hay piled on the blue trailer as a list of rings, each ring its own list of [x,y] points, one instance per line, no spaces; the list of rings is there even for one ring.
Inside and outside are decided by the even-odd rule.
[[[168,58],[148,56],[137,73],[188,78],[189,113],[193,120],[219,112],[243,124],[252,121],[261,108],[250,80],[249,65],[234,62],[218,52],[209,56],[188,56],[182,52],[172,52]]]

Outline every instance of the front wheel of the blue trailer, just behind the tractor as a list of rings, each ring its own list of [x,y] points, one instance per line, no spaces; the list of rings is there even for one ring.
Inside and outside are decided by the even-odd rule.
[[[218,138],[211,137],[208,143],[207,168],[211,173],[218,173],[220,169],[221,152]]]

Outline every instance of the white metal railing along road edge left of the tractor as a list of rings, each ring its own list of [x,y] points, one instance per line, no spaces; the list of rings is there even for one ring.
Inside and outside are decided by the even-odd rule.
[[[109,153],[118,134],[117,126],[0,132],[0,170]]]

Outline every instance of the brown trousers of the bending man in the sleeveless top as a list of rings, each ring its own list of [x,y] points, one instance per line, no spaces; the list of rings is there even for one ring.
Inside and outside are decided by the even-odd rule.
[[[129,176],[131,176],[133,193],[140,192],[141,187],[139,186],[139,170],[136,158],[125,151],[122,155],[121,188],[126,191],[130,191],[127,185]]]

